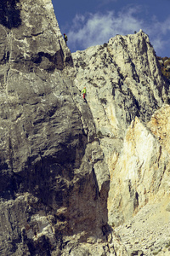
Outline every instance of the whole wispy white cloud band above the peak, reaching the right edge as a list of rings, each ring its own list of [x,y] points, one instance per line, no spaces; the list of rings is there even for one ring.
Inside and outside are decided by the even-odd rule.
[[[149,21],[142,20],[138,15],[138,7],[123,9],[118,14],[110,11],[105,14],[77,15],[68,32],[69,46],[73,50],[86,49],[92,45],[104,44],[116,34],[125,35],[143,29],[149,34],[156,51],[163,49],[168,42],[166,35],[170,31],[170,17],[160,22],[156,17]]]

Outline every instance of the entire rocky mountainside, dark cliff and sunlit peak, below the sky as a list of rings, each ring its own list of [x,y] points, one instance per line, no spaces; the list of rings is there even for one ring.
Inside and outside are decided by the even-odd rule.
[[[51,0],[1,0],[0,32],[0,255],[169,255],[169,82],[148,35],[71,54]]]

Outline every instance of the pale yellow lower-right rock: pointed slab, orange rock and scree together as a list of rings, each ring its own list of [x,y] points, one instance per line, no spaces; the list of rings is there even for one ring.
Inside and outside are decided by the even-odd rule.
[[[152,115],[150,130],[137,118],[132,122],[112,170],[109,223],[130,255],[169,253],[168,110],[163,105]]]

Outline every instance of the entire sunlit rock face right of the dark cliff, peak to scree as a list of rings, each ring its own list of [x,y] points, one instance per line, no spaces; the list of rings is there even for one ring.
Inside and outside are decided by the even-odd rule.
[[[169,85],[149,38],[117,35],[72,57],[110,170],[108,223],[129,255],[169,253]]]

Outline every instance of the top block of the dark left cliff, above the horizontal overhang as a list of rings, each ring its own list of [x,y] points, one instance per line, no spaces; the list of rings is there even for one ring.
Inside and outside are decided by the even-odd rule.
[[[50,2],[23,0],[1,4],[1,18],[8,20],[8,24],[0,23],[0,63],[10,63],[10,67],[26,73],[52,72],[55,68],[62,70],[66,63],[72,65],[70,50],[65,47]],[[19,13],[20,22],[13,16],[8,17],[8,9],[11,15]],[[17,22],[18,25],[14,25]]]

